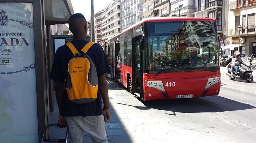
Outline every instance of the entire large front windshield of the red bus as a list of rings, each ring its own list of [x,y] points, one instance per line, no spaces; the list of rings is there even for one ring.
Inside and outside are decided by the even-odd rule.
[[[219,69],[215,22],[147,23],[147,73]]]

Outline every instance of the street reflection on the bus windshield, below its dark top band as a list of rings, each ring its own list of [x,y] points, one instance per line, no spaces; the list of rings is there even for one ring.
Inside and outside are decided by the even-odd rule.
[[[159,72],[169,68],[193,68],[200,65],[205,68],[212,65],[208,63],[214,63],[217,66],[215,41],[215,34],[148,37],[148,70]]]

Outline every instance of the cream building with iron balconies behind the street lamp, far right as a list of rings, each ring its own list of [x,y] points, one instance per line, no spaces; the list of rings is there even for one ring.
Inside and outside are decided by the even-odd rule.
[[[240,33],[240,52],[256,56],[256,0],[229,0],[229,5],[228,22],[226,22],[228,27],[225,29],[226,45],[234,45],[230,47],[236,51]],[[239,31],[239,25],[241,25],[241,31]]]

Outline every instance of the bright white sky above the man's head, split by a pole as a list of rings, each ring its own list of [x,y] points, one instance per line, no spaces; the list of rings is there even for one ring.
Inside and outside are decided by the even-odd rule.
[[[113,0],[94,0],[94,13],[103,10]],[[71,0],[74,13],[82,13],[87,21],[91,16],[91,0]]]

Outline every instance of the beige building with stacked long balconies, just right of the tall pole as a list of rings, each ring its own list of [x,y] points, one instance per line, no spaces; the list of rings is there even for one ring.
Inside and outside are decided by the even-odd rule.
[[[121,33],[121,0],[113,0],[113,3],[108,5],[101,14],[101,44]]]

